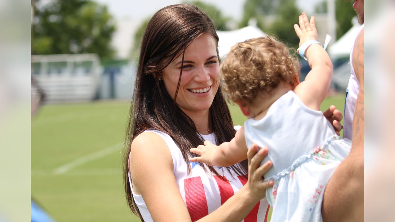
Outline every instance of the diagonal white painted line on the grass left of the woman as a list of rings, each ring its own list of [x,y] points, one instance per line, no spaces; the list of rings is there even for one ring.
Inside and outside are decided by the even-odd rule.
[[[60,174],[66,173],[67,171],[69,171],[70,169],[73,169],[74,167],[80,166],[80,165],[90,162],[92,160],[96,160],[100,157],[106,156],[114,151],[117,151],[118,149],[116,149],[116,148],[118,148],[118,147],[120,147],[120,144],[115,144],[115,145],[106,147],[100,151],[96,151],[91,154],[82,156],[76,160],[68,162],[67,164],[64,164],[64,165],[54,169],[53,173],[55,175],[60,175]]]

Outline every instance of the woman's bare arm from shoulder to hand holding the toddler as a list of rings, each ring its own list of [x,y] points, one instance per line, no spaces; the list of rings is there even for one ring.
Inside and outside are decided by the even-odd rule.
[[[272,186],[273,182],[263,182],[261,177],[271,162],[259,167],[267,149],[262,149],[254,156],[256,150],[255,147],[248,151],[249,178],[246,185],[199,222],[241,221],[265,197],[265,189]],[[134,192],[143,196],[154,221],[191,221],[173,174],[171,153],[159,135],[146,132],[134,139],[130,171]]]

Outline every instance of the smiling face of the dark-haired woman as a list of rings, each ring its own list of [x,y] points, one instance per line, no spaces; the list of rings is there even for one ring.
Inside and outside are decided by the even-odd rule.
[[[182,54],[163,70],[163,82],[174,99],[181,70]],[[180,88],[176,102],[187,115],[208,110],[219,85],[217,44],[210,34],[202,34],[185,50]]]

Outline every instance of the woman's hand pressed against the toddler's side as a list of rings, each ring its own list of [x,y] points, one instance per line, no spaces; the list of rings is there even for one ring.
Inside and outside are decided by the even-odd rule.
[[[257,201],[265,198],[266,189],[273,186],[273,181],[263,182],[263,174],[265,174],[272,166],[272,162],[269,160],[262,166],[261,161],[267,155],[267,148],[262,148],[258,151],[258,145],[252,144],[248,149],[248,181],[245,184],[251,192],[251,197],[256,198]]]

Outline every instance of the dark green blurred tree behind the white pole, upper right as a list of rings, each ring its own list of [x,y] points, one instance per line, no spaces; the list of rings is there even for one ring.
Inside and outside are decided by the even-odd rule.
[[[335,1],[336,10],[336,39],[342,37],[351,27],[352,18],[356,16],[352,8],[353,1],[345,0]],[[316,13],[327,13],[327,1],[324,0],[315,6]]]

